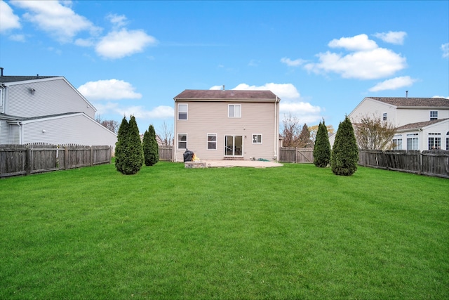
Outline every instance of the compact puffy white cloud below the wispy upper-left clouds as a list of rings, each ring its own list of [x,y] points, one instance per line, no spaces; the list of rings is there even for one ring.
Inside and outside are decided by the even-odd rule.
[[[157,41],[143,30],[126,30],[109,32],[95,46],[98,55],[104,58],[123,58],[134,53],[142,52],[146,46],[154,45]]]

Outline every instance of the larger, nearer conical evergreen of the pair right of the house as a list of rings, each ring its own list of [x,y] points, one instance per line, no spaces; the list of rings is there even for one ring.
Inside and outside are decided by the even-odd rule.
[[[351,176],[357,170],[358,147],[354,129],[349,117],[338,126],[330,159],[330,167],[335,175]]]

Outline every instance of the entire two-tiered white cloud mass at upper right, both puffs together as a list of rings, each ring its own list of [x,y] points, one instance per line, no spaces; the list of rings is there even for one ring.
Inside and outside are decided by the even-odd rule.
[[[387,48],[380,48],[366,34],[333,39],[328,46],[345,48],[349,53],[319,53],[318,63],[307,63],[304,69],[316,74],[334,72],[343,78],[379,79],[390,77],[406,67],[406,58]]]

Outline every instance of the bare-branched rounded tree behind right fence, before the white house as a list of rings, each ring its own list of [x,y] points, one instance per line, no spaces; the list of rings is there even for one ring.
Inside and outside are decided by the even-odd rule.
[[[396,127],[375,115],[364,115],[358,122],[353,122],[358,148],[369,150],[386,150],[392,148]]]

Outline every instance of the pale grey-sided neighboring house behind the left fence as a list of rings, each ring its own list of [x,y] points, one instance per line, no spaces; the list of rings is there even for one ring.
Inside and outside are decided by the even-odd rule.
[[[0,144],[110,145],[95,107],[64,77],[4,76],[0,68]]]

